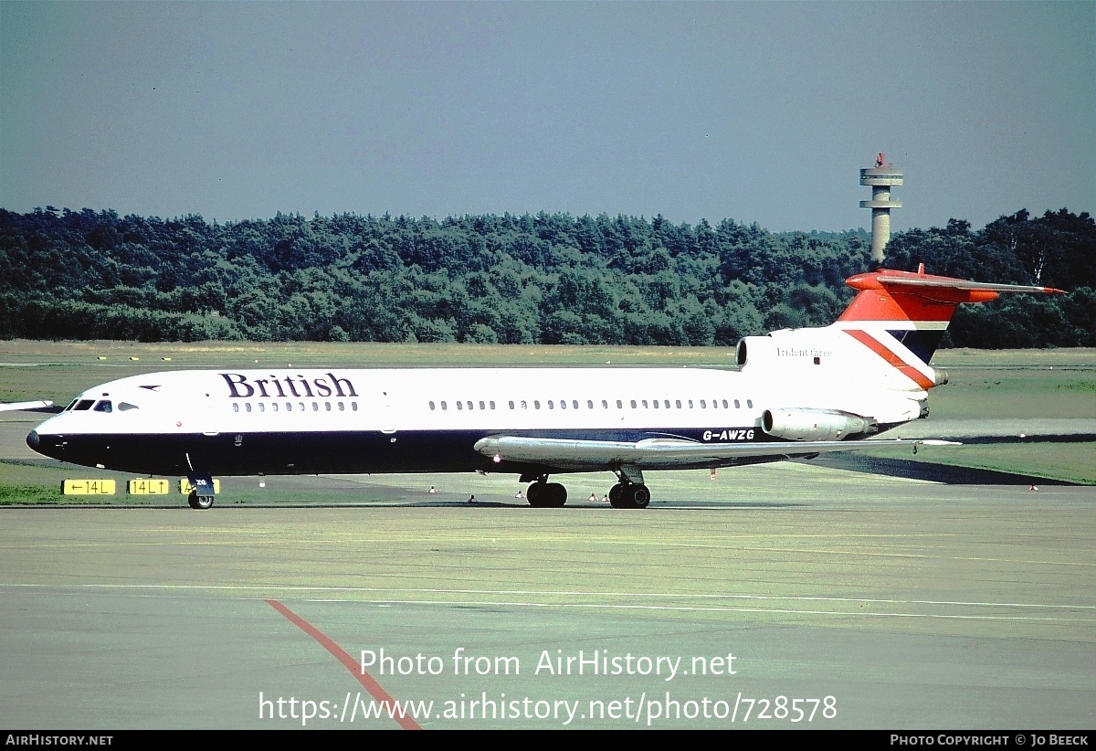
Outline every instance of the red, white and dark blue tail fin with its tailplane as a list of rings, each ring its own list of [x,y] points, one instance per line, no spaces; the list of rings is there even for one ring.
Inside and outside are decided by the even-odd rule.
[[[833,323],[905,375],[920,388],[943,380],[928,365],[956,306],[987,303],[1003,292],[1062,293],[1053,287],[968,282],[950,276],[882,269],[850,276],[845,283],[859,294]]]

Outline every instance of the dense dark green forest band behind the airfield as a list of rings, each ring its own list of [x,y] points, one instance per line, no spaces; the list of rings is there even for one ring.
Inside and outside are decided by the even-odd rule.
[[[0,337],[730,345],[823,326],[870,238],[661,216],[0,209]],[[1069,294],[960,308],[945,345],[1096,345],[1096,224],[1020,210],[892,237],[886,265]]]

